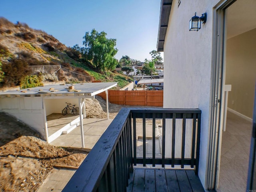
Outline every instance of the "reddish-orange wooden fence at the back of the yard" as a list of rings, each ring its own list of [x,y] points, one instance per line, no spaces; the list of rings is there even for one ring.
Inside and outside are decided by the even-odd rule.
[[[108,90],[110,103],[119,105],[163,106],[163,90],[121,91]],[[106,100],[105,92],[98,94]]]

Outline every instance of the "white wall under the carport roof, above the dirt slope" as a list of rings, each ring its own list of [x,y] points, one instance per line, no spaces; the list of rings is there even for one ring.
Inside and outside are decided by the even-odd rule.
[[[28,124],[45,138],[42,97],[0,98],[0,109]]]

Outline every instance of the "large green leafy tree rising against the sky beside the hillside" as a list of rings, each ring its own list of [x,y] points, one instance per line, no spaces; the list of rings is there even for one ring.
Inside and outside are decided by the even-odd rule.
[[[114,56],[117,53],[116,39],[106,38],[104,31],[98,33],[95,29],[85,33],[83,37],[84,54],[87,59],[92,61],[94,67],[98,72],[105,70],[114,70],[117,65],[117,61]]]

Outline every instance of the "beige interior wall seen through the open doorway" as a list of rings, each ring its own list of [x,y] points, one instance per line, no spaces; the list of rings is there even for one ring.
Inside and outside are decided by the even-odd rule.
[[[252,118],[256,82],[256,29],[227,40],[228,108]]]

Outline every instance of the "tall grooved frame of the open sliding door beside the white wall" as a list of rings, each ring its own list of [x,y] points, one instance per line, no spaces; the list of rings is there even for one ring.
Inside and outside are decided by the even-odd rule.
[[[208,154],[206,167],[207,189],[217,189],[220,173],[220,152],[222,142],[221,112],[224,104],[225,68],[226,68],[226,28],[225,10],[236,0],[221,0],[213,8],[212,29],[212,84],[210,108],[210,132],[208,136]]]

